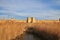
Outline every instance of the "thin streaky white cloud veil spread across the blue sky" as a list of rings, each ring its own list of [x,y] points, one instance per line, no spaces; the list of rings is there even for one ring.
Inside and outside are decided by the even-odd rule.
[[[52,0],[53,5],[60,5],[60,0]],[[49,17],[50,19],[57,19],[60,17],[60,10],[54,10],[50,6],[52,3],[44,4],[43,2],[24,1],[24,0],[2,0],[0,6],[7,10],[0,10],[0,13],[7,15],[18,16],[33,16],[33,17]],[[22,11],[22,12],[18,12]],[[48,19],[49,19],[48,18]]]

